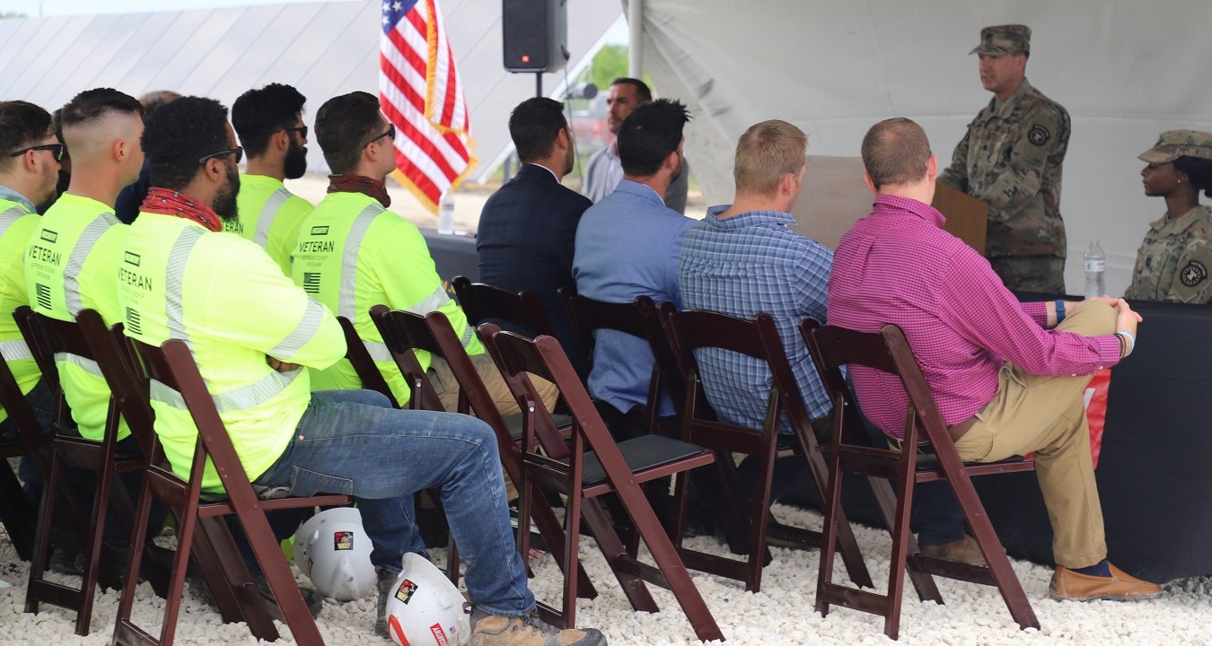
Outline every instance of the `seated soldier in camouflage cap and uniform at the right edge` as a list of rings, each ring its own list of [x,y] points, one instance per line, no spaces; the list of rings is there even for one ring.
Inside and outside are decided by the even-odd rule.
[[[1149,225],[1124,297],[1212,302],[1212,208],[1200,206],[1201,190],[1212,196],[1212,135],[1162,132],[1140,159],[1144,194],[1165,198],[1166,215]]]

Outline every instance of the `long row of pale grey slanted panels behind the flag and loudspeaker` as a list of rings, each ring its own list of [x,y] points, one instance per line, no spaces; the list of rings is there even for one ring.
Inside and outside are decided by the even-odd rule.
[[[81,90],[115,87],[135,96],[175,90],[230,107],[245,90],[285,82],[308,97],[304,121],[314,124],[333,96],[378,93],[381,7],[358,0],[0,21],[0,98],[53,110]],[[501,0],[442,0],[440,8],[481,161],[475,179],[511,145],[505,122],[534,96],[534,75],[503,68]],[[568,2],[570,68],[596,51],[619,13],[613,2]],[[562,82],[562,72],[544,74],[548,95]],[[327,170],[314,136],[308,161]]]

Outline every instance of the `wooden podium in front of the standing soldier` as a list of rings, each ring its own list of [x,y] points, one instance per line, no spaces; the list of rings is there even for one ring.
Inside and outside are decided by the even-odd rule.
[[[837,241],[854,222],[871,212],[873,200],[871,191],[863,183],[862,159],[808,155],[804,188],[791,207],[795,216],[791,230],[829,248],[837,248]],[[938,184],[932,206],[947,217],[943,229],[984,255],[989,212],[984,202]]]

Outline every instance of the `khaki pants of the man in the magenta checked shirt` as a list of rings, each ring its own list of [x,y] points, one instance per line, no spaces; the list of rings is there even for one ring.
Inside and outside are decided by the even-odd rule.
[[[1087,337],[1110,335],[1115,332],[1115,309],[1100,302],[1086,303],[1057,328]],[[1035,474],[1052,521],[1052,556],[1057,565],[1070,568],[1107,558],[1082,398],[1090,378],[1029,375],[1006,364],[997,394],[955,442],[965,462],[1035,453]]]

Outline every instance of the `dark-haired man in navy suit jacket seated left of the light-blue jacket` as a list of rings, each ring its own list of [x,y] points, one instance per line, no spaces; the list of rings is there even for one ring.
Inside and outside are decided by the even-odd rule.
[[[560,184],[572,171],[572,130],[564,107],[530,98],[509,115],[509,136],[522,166],[480,213],[476,251],[480,280],[510,291],[531,290],[543,302],[551,330],[584,377],[584,350],[577,343],[555,291],[574,287],[573,241],[581,215],[593,202]]]

